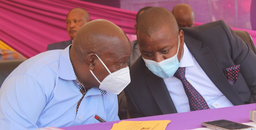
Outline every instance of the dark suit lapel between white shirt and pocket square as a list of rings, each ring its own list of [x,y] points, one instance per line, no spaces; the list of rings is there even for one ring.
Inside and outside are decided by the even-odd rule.
[[[233,105],[244,104],[237,92],[227,81],[223,71],[219,67],[209,47],[201,48],[202,43],[190,36],[184,36],[187,48],[194,56],[205,74],[211,79],[216,87],[227,97]],[[211,92],[209,92],[211,93]]]

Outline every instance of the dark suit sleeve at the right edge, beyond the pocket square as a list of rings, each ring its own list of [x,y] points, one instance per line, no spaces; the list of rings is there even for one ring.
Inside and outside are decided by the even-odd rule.
[[[256,54],[223,20],[221,20],[221,25],[230,41],[231,58],[234,64],[241,65],[240,73],[251,91],[249,103],[256,103]]]

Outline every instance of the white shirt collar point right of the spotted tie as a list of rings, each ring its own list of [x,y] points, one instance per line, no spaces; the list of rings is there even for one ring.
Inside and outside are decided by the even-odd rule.
[[[186,44],[184,43],[183,56],[182,56],[179,67],[190,67],[190,66],[194,66],[193,56],[188,50]]]

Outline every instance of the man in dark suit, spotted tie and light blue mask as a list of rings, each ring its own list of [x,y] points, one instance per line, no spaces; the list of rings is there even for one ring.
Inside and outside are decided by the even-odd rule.
[[[125,88],[131,118],[256,102],[256,55],[223,20],[182,28],[170,11],[137,24],[142,56]]]

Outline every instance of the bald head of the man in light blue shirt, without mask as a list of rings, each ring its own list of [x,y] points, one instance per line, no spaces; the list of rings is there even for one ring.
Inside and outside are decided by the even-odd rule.
[[[99,86],[90,71],[100,82],[109,75],[99,59],[112,73],[126,67],[131,50],[130,40],[122,29],[108,20],[97,19],[76,33],[69,55],[77,79],[90,88]]]

